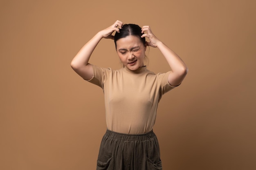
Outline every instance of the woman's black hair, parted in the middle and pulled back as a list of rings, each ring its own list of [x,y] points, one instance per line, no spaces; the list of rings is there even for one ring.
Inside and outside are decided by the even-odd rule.
[[[122,26],[122,29],[119,29],[120,33],[116,32],[115,36],[114,36],[114,42],[115,42],[115,46],[117,49],[117,40],[119,40],[120,38],[125,38],[129,35],[133,35],[133,36],[137,36],[139,38],[139,40],[141,40],[141,42],[146,45],[146,38],[141,38],[141,35],[143,35],[143,33],[141,33],[141,27],[139,25],[136,24],[124,24]]]

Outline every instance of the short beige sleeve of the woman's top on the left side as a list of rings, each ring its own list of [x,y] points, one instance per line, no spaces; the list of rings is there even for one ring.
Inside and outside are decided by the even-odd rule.
[[[91,79],[86,80],[86,81],[88,81],[92,84],[95,84],[104,90],[104,82],[108,78],[108,75],[110,74],[111,69],[110,68],[101,68],[98,66],[94,66],[92,64],[91,64],[91,66],[93,69],[93,76]]]

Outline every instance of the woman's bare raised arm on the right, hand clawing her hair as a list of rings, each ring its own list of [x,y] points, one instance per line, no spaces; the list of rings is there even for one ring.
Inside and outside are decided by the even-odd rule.
[[[145,33],[146,31],[146,33]],[[148,46],[157,47],[166,58],[169,66],[171,67],[171,73],[168,75],[168,82],[171,86],[178,86],[185,78],[188,68],[182,59],[172,51],[168,46],[156,38],[152,33],[149,26],[143,26],[141,33],[144,33],[142,37],[148,37],[150,42],[147,42]]]

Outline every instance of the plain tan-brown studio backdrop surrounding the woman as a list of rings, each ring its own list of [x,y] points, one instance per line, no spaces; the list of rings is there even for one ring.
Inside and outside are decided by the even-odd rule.
[[[70,67],[115,20],[150,25],[189,74],[159,103],[164,170],[256,169],[254,0],[1,0],[0,169],[93,170],[106,130],[103,92]],[[148,68],[169,67],[158,49]],[[114,42],[90,61],[121,67]]]

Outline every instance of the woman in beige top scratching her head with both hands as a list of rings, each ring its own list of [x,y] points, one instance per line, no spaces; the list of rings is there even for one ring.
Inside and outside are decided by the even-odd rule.
[[[112,70],[88,63],[102,38],[114,40],[123,68]],[[147,46],[162,52],[171,71],[155,74],[147,70]],[[101,141],[97,170],[161,170],[159,144],[152,129],[162,95],[186,76],[188,69],[182,59],[157,39],[149,26],[117,20],[87,42],[71,66],[104,91],[107,132]]]

